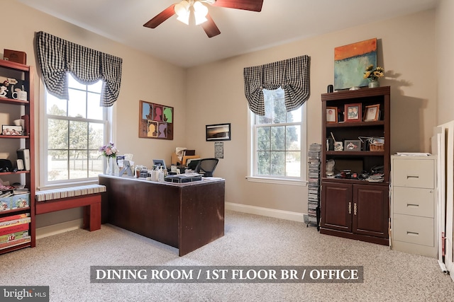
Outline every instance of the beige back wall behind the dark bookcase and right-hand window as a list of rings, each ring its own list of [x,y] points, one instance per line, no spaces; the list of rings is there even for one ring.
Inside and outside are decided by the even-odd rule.
[[[341,45],[377,37],[382,86],[392,90],[392,152],[429,151],[436,120],[435,13],[424,11],[389,21],[312,37],[231,59],[196,66],[187,74],[187,108],[197,118],[187,123],[187,138],[204,156],[214,143],[204,141],[205,124],[232,123],[232,140],[216,174],[226,178],[226,202],[306,213],[306,187],[270,185],[245,180],[247,175],[248,108],[243,68],[308,54],[311,97],[307,101],[307,144],[321,143],[321,93],[333,83],[333,51]]]

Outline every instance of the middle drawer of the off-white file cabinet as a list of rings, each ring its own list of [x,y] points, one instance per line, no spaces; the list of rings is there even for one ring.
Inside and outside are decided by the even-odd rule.
[[[414,187],[393,187],[393,212],[433,218],[435,190]]]

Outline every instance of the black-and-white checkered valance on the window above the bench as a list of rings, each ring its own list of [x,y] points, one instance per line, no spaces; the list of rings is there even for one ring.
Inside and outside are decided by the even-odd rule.
[[[86,85],[103,80],[102,107],[114,105],[120,93],[123,60],[88,47],[74,44],[42,31],[36,33],[36,52],[48,92],[68,98],[67,72]]]

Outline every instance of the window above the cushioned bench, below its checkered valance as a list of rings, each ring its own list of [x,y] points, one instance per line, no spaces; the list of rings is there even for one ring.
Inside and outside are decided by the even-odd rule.
[[[104,158],[99,146],[108,137],[109,109],[99,106],[102,81],[92,85],[68,76],[68,100],[45,93],[41,144],[44,185],[97,179]]]

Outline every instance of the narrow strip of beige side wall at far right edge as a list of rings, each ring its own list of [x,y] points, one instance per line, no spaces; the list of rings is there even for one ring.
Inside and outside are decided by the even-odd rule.
[[[454,1],[441,0],[436,9],[436,38],[438,58],[438,115],[437,124],[454,120],[453,71],[454,71]]]

